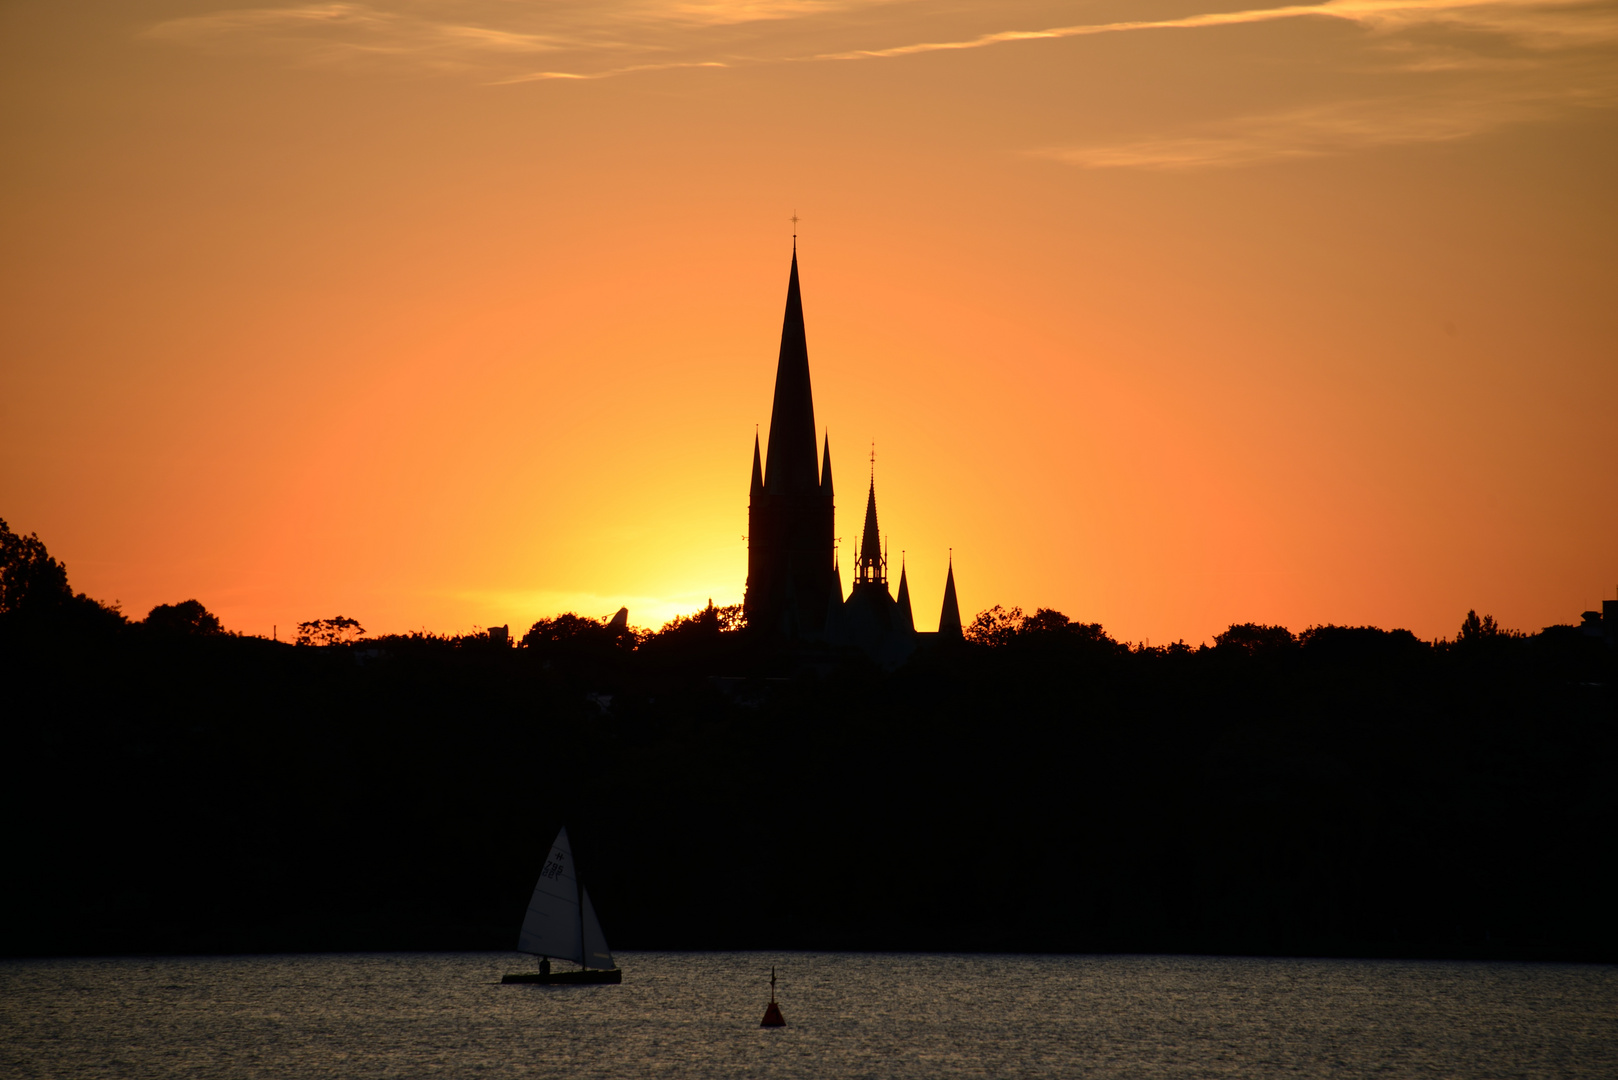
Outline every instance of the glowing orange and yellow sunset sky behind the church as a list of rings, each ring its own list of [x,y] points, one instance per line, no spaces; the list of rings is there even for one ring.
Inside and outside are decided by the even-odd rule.
[[[131,617],[739,602],[794,212],[921,628],[1618,596],[1618,2],[13,0],[0,84],[0,517]]]

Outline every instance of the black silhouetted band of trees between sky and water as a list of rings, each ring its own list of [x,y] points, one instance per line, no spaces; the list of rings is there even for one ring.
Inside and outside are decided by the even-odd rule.
[[[883,672],[710,606],[291,646],[23,555],[6,954],[505,949],[566,824],[620,949],[1618,959],[1578,628],[1144,648],[990,609]]]

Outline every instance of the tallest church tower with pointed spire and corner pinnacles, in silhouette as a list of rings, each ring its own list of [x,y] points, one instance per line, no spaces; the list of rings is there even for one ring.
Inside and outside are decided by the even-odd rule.
[[[748,593],[743,610],[754,630],[786,638],[824,628],[833,585],[832,439],[815,463],[809,343],[798,288],[798,244],[786,280],[786,316],[775,364],[770,437],[760,460],[752,440],[748,499]],[[841,593],[841,589],[838,589]],[[837,597],[841,601],[841,596]]]

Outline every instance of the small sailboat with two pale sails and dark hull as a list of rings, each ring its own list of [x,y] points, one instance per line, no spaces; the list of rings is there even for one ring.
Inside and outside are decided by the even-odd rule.
[[[502,983],[623,981],[623,972],[613,963],[607,936],[591,905],[589,889],[573,868],[573,847],[568,844],[566,829],[557,834],[557,842],[545,857],[545,868],[539,871],[516,950],[539,957],[539,970],[515,972],[500,980]],[[552,959],[571,960],[579,967],[576,972],[552,972]]]

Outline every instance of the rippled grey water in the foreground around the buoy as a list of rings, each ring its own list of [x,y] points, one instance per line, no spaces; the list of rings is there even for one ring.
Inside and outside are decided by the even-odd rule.
[[[1618,968],[510,954],[0,963],[5,1077],[1618,1077]],[[759,1030],[769,970],[785,1030]]]

